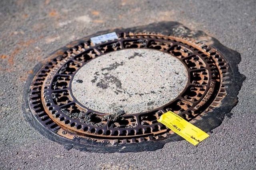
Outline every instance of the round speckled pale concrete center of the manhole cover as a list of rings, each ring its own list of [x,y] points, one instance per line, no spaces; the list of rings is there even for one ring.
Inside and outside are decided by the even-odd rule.
[[[94,111],[140,113],[172,101],[187,80],[186,68],[176,57],[151,49],[125,49],[82,66],[72,92]]]

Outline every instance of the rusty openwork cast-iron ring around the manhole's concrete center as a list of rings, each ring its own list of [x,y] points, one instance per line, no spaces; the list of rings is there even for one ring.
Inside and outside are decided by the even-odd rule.
[[[118,39],[98,45],[85,41],[71,47],[39,70],[30,86],[28,102],[44,127],[67,139],[95,145],[157,141],[173,133],[157,122],[166,111],[193,122],[220,105],[226,95],[228,66],[216,49],[189,39],[150,32],[117,35]],[[178,58],[188,71],[183,92],[162,107],[129,115],[100,113],[80,104],[71,90],[79,68],[96,57],[127,48],[155,49]]]

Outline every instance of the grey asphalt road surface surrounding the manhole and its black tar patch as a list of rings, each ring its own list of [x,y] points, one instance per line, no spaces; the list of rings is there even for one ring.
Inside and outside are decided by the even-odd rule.
[[[0,169],[256,169],[256,2],[169,0],[2,0],[0,2]],[[34,66],[70,41],[119,27],[178,21],[238,51],[246,80],[238,104],[210,137],[137,153],[63,147],[26,122],[22,90]]]

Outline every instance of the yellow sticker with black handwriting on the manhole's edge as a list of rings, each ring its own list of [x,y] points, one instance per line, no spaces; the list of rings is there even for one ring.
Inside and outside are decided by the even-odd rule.
[[[173,113],[172,111],[164,113],[157,121],[166,125],[172,131],[174,131],[174,133],[177,133],[193,145],[197,145],[198,143],[209,137],[207,133],[192,125],[191,123],[189,123],[179,115]]]

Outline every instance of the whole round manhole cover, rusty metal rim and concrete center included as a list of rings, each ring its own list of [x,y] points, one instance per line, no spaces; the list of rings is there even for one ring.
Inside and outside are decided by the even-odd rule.
[[[82,150],[158,148],[152,142],[174,134],[158,123],[163,113],[195,123],[220,106],[229,66],[218,50],[158,33],[117,35],[77,41],[34,75],[26,94],[32,119],[55,141]]]

